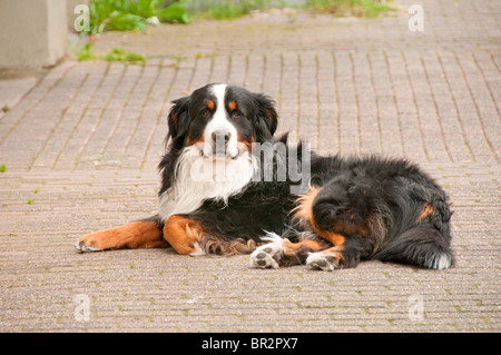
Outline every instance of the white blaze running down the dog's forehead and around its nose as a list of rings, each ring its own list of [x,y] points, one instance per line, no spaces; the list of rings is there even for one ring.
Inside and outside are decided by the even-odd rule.
[[[204,132],[204,140],[206,142],[213,141],[213,134],[215,131],[222,130],[227,131],[230,137],[226,145],[226,155],[230,157],[235,157],[238,154],[237,149],[237,130],[234,125],[228,120],[228,115],[226,112],[225,107],[225,97],[226,97],[226,83],[217,83],[210,87],[212,93],[216,97],[216,111],[214,112],[213,118],[207,124]],[[204,148],[204,155],[212,155],[212,147],[206,145]]]

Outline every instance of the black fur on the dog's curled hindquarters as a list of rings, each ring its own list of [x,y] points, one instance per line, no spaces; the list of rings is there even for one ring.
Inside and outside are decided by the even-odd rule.
[[[313,205],[318,227],[330,229],[334,221],[379,224],[370,238],[347,236],[350,247],[344,249],[350,266],[375,258],[433,267],[433,258],[444,254],[453,262],[449,198],[415,165],[375,156],[332,157],[318,158],[312,170],[313,184],[322,187]],[[424,204],[430,215],[420,219]]]

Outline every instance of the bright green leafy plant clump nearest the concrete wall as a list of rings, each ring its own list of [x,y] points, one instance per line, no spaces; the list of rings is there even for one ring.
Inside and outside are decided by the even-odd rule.
[[[179,2],[161,8],[163,0],[90,0],[90,30],[88,34],[104,31],[144,31],[147,19],[160,22],[188,23],[188,14]]]

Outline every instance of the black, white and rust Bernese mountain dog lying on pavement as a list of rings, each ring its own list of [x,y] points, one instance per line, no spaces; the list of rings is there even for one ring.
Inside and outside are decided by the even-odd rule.
[[[84,236],[78,250],[250,254],[256,268],[453,265],[449,198],[414,164],[322,157],[275,138],[275,102],[233,85],[210,83],[173,103],[158,214]]]

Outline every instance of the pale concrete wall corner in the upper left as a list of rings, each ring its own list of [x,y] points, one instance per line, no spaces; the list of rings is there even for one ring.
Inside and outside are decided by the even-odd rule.
[[[56,65],[68,48],[67,0],[0,0],[0,69]]]

